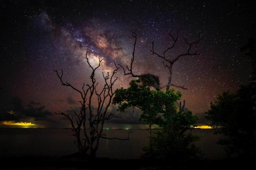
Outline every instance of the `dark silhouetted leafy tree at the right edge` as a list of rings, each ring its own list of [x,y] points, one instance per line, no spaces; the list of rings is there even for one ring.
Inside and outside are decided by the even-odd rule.
[[[256,41],[251,39],[241,48],[253,59],[253,82],[241,85],[236,92],[223,92],[210,103],[206,118],[216,134],[224,135],[218,143],[226,146],[229,156],[254,157],[256,153]]]

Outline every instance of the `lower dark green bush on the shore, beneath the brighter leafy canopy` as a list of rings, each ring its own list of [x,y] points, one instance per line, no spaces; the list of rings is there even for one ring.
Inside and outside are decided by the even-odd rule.
[[[197,120],[198,116],[190,111],[175,111],[166,116],[163,130],[156,131],[151,138],[153,148],[150,150],[150,145],[144,146],[142,157],[174,162],[201,158],[200,148],[194,145],[200,137],[188,131],[197,126]]]

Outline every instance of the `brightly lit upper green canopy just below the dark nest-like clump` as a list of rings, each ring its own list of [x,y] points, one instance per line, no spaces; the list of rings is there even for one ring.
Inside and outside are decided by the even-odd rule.
[[[174,89],[151,91],[141,80],[132,80],[129,88],[115,91],[112,103],[118,104],[118,111],[121,112],[127,108],[138,107],[142,111],[140,120],[148,124],[161,125],[163,117],[167,117],[170,112],[176,112],[175,102],[180,99],[181,92],[175,93]],[[166,103],[168,107],[165,107]]]

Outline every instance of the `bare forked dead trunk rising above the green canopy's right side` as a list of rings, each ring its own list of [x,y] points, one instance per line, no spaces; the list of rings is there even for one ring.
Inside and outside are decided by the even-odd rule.
[[[194,53],[191,53],[190,50],[191,50],[192,45],[198,44],[199,41],[201,40],[201,38],[200,38],[200,35],[199,35],[199,36],[198,36],[198,40],[195,41],[195,42],[192,42],[192,43],[188,42],[188,41],[187,41],[187,38],[184,38],[186,44],[188,44],[187,52],[186,52],[186,53],[183,53],[183,54],[179,54],[178,56],[174,57],[173,60],[171,60],[171,59],[166,58],[166,55],[165,55],[165,54],[166,54],[166,52],[168,52],[169,50],[171,50],[172,48],[174,48],[174,46],[175,46],[175,44],[176,44],[176,42],[178,41],[178,38],[179,38],[179,30],[177,31],[177,36],[176,36],[176,37],[174,37],[173,35],[171,35],[171,33],[169,33],[169,35],[170,35],[171,38],[173,39],[173,44],[172,44],[171,46],[169,46],[169,47],[163,52],[162,55],[160,55],[160,54],[158,54],[157,52],[155,52],[155,50],[154,50],[154,41],[151,42],[151,44],[152,44],[152,50],[150,50],[150,51],[152,52],[152,55],[156,55],[156,56],[162,58],[162,59],[164,60],[164,61],[162,62],[162,63],[163,63],[163,66],[166,67],[166,68],[168,69],[168,71],[169,71],[168,84],[167,84],[166,86],[161,87],[161,88],[166,87],[166,90],[168,90],[168,89],[170,88],[170,86],[174,86],[174,87],[178,87],[178,88],[182,88],[182,89],[184,89],[184,90],[187,90],[187,88],[184,87],[185,85],[179,86],[179,85],[175,85],[175,84],[173,84],[173,83],[171,82],[171,78],[172,78],[172,74],[173,74],[173,71],[172,71],[173,64],[174,64],[177,60],[179,60],[180,57],[183,57],[183,56],[195,56],[195,55],[200,55],[200,54],[197,53],[197,51],[194,52]],[[165,62],[167,62],[167,63],[165,63]]]

